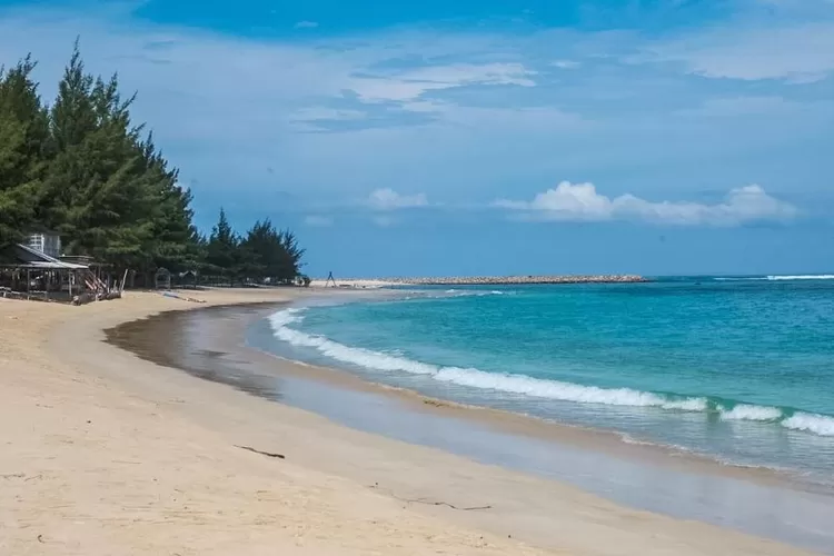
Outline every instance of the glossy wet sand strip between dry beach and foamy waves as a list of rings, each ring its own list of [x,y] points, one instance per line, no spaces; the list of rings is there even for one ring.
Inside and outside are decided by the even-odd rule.
[[[485,464],[572,483],[639,509],[698,519],[817,550],[832,550],[820,494],[767,469],[721,465],[605,431],[470,408],[294,364],[246,346],[269,335],[277,306],[171,312],[108,331],[141,357],[250,395],[300,407],[358,430],[441,448]],[[336,466],[332,471],[345,471]],[[356,478],[369,480],[364,474]],[[523,524],[517,524],[523,526]]]

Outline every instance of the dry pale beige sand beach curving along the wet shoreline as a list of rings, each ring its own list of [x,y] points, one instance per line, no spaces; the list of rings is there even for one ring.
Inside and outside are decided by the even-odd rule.
[[[160,311],[322,290],[189,295],[206,302],[0,299],[0,554],[805,554],[350,429],[103,341]]]

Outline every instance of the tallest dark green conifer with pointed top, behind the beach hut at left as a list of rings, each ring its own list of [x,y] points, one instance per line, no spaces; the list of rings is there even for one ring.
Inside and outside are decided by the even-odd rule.
[[[132,101],[121,99],[116,76],[103,81],[85,72],[76,43],[51,110],[58,153],[42,214],[64,237],[68,252],[147,271],[157,176],[142,165]]]

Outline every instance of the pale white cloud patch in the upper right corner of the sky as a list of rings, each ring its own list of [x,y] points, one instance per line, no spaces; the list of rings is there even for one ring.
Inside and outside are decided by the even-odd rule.
[[[834,22],[714,28],[649,44],[632,61],[681,62],[711,78],[813,82],[834,71]]]

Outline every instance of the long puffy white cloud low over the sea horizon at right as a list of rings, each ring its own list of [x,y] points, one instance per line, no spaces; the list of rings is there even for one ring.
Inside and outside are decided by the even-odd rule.
[[[724,202],[653,202],[626,193],[614,199],[593,183],[563,181],[532,201],[498,200],[496,207],[524,211],[532,219],[564,221],[645,220],[678,226],[739,226],[762,220],[790,220],[798,215],[793,205],[771,197],[757,185],[732,189]]]

